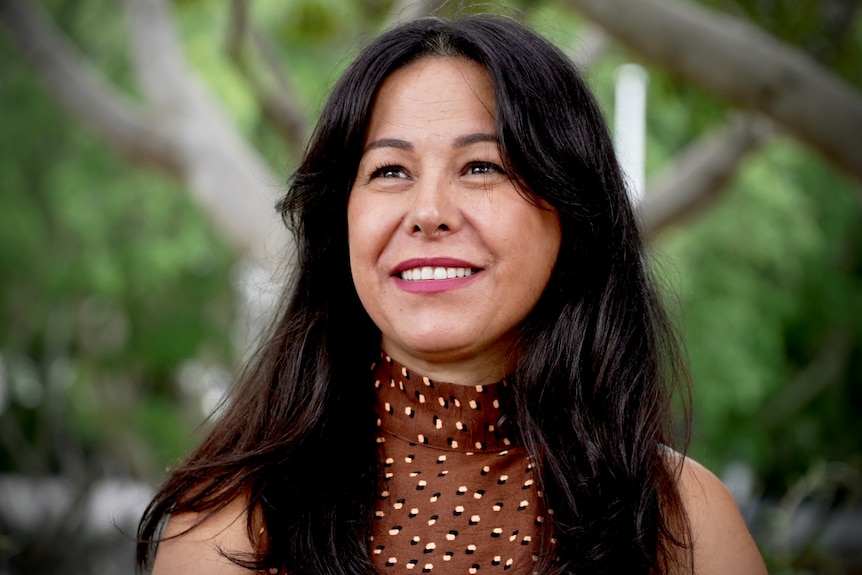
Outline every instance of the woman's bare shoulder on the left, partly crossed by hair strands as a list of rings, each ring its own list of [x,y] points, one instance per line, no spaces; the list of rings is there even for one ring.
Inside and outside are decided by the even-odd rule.
[[[165,539],[159,543],[153,575],[248,575],[227,553],[253,550],[247,529],[247,501],[235,499],[224,509],[200,522],[200,515],[171,517]]]

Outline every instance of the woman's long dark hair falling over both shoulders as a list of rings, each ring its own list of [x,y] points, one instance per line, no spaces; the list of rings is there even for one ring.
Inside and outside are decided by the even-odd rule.
[[[505,167],[562,225],[556,267],[520,326],[510,378],[517,429],[556,511],[545,528],[559,561],[540,567],[647,574],[679,560],[690,568],[679,458],[667,449],[671,390],[684,369],[607,127],[564,54],[492,16],[398,26],[334,87],[279,204],[297,240],[294,280],[225,411],[141,520],[139,566],[169,514],[206,516],[246,497],[258,553],[234,561],[287,573],[373,572],[377,463],[364,380],[380,332],[353,288],[346,210],[378,87],[424,57],[485,67]]]

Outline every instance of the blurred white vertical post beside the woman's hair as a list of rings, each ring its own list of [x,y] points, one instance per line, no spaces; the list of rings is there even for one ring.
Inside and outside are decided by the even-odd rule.
[[[614,146],[629,185],[632,203],[644,193],[646,155],[646,87],[649,74],[637,64],[617,68],[614,102]]]

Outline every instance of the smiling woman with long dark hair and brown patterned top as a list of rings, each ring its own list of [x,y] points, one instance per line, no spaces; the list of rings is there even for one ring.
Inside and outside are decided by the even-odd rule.
[[[281,210],[295,283],[140,566],[167,522],[157,575],[765,573],[669,447],[672,331],[599,109],[547,41],[487,16],[384,34]]]

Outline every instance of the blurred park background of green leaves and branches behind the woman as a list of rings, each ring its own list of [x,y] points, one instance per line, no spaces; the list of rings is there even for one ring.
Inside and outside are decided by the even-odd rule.
[[[860,4],[0,0],[0,574],[132,572],[289,274],[273,205],[329,87],[391,23],[476,11],[549,36],[611,123],[647,71],[689,454],[771,573],[862,573]]]

